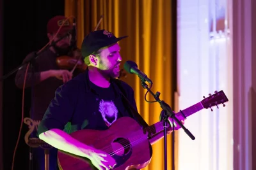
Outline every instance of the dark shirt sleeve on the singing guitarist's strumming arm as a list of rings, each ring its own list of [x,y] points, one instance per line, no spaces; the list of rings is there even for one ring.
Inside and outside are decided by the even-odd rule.
[[[70,80],[56,89],[55,97],[52,99],[42,121],[38,125],[37,135],[50,129],[65,128],[74,114],[77,103],[78,85],[76,81]]]

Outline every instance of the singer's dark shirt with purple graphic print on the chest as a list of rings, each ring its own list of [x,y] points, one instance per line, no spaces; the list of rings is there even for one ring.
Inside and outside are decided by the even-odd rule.
[[[132,88],[124,81],[116,81],[124,89],[132,108],[137,110]],[[118,85],[111,81],[107,89],[97,87],[90,82],[86,70],[56,90],[38,125],[38,135],[55,128],[68,134],[81,129],[106,130],[119,117],[132,117],[138,122],[124,102]]]

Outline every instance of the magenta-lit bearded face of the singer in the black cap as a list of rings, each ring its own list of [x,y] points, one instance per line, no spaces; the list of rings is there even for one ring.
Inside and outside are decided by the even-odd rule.
[[[116,78],[119,76],[121,61],[120,46],[118,43],[115,43],[114,45],[101,50],[98,57],[97,67],[104,76]]]

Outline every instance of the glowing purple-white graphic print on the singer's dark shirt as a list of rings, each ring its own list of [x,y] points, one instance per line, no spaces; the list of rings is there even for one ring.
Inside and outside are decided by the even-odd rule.
[[[116,121],[118,110],[116,109],[113,101],[101,100],[99,104],[99,111],[108,127]],[[109,122],[108,120],[111,121]]]

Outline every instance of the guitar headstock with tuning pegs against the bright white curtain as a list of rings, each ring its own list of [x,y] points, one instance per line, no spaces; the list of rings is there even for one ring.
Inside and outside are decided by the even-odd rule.
[[[204,108],[211,108],[211,111],[212,106],[217,106],[217,108],[219,108],[218,104],[223,104],[223,107],[225,107],[226,105],[224,103],[226,102],[228,102],[228,98],[223,90],[221,90],[220,92],[215,91],[214,94],[209,94],[209,97],[204,97],[204,99],[201,101]]]

